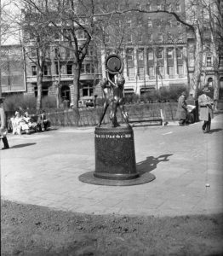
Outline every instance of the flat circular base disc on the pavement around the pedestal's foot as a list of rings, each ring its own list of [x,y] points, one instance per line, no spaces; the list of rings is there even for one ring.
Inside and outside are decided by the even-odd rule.
[[[133,185],[139,185],[143,183],[149,183],[152,180],[154,180],[156,177],[152,173],[146,172],[146,173],[140,174],[140,177],[136,177],[134,179],[114,180],[114,179],[94,177],[94,172],[86,172],[80,175],[78,178],[83,183],[90,183],[95,185],[133,186]]]

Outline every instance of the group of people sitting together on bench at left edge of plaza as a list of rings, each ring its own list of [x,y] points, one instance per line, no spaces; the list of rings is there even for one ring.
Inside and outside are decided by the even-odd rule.
[[[15,111],[14,116],[9,119],[9,127],[14,135],[30,134],[31,131],[47,131],[49,126],[50,122],[44,110],[37,116],[30,116],[28,112],[22,115],[19,111]]]

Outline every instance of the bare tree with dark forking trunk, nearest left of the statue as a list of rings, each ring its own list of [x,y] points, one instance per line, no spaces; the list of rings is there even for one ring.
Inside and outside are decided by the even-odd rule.
[[[72,53],[73,86],[71,86],[71,103],[78,107],[80,70],[87,49],[94,33],[94,1],[43,1],[44,8],[34,0],[24,0],[35,12],[48,20],[47,26],[58,32],[63,38],[63,47]],[[46,26],[45,25],[45,26]],[[83,32],[80,43],[78,34]]]

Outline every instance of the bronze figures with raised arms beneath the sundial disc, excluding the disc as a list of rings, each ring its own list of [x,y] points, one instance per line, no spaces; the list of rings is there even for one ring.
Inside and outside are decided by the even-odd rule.
[[[105,117],[106,110],[108,106],[112,103],[110,119],[112,127],[120,126],[117,123],[117,108],[120,109],[122,117],[126,124],[129,125],[128,113],[125,112],[123,106],[123,89],[124,89],[125,79],[122,73],[111,74],[106,70],[106,78],[100,81],[103,94],[105,96],[105,102],[103,105],[103,113],[100,116],[100,122],[98,126],[100,127],[102,120]]]

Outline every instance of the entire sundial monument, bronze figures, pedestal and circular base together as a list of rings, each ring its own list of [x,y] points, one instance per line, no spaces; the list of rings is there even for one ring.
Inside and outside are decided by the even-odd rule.
[[[106,58],[106,78],[100,81],[105,103],[100,122],[94,131],[95,170],[79,177],[84,183],[128,186],[152,181],[150,172],[137,172],[134,154],[134,131],[123,106],[123,61],[118,55]],[[111,104],[111,126],[101,125]],[[127,125],[117,122],[117,108]]]

